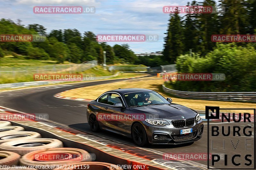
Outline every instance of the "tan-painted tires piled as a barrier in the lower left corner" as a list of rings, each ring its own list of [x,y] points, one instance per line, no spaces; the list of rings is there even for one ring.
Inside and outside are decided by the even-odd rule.
[[[87,151],[63,148],[63,143],[58,139],[41,138],[37,132],[24,131],[23,127],[11,125],[11,122],[0,121],[1,166],[28,167],[14,167],[12,170],[35,170],[32,166],[37,166],[36,169],[40,170],[116,169],[113,164],[91,162],[91,155]]]

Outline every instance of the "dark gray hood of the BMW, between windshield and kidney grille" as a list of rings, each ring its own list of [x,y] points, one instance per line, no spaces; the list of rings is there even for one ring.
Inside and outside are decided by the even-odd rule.
[[[196,112],[192,109],[174,103],[143,107],[131,107],[131,110],[136,113],[151,114],[154,116],[154,118],[159,119],[182,119],[180,116],[184,116],[185,119],[187,119],[196,116]]]

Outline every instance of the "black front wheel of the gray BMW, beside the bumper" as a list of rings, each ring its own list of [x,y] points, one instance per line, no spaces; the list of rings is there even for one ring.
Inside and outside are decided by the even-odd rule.
[[[132,126],[132,139],[133,142],[138,146],[148,145],[148,137],[146,130],[140,123],[135,123]]]

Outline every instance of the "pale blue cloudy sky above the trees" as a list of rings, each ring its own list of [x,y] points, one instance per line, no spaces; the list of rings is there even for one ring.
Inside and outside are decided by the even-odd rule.
[[[128,42],[135,53],[163,50],[169,14],[163,6],[185,6],[190,0],[0,0],[0,18],[22,20],[23,25],[40,24],[53,29],[74,29],[81,33],[152,34],[158,41]],[[91,14],[35,14],[34,6],[93,6]],[[108,42],[109,45],[124,42]]]

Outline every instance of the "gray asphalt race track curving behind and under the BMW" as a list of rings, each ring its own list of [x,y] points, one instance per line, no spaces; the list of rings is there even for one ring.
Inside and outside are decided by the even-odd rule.
[[[12,108],[26,113],[42,114],[46,113],[49,115],[49,119],[55,122],[60,122],[66,124],[72,128],[76,128],[82,131],[90,132],[89,125],[86,119],[86,101],[78,100],[65,100],[54,97],[55,94],[63,92],[65,90],[70,90],[74,88],[93,86],[107,83],[114,83],[118,81],[130,81],[131,79],[116,79],[116,80],[104,80],[96,82],[86,82],[78,84],[68,84],[68,85],[52,85],[48,87],[36,87],[21,90],[13,90],[7,92],[0,92],[0,106]],[[134,80],[134,79],[133,79]],[[173,101],[175,103],[175,101]],[[204,111],[198,111],[204,117]],[[144,148],[148,151],[153,151],[157,153],[204,153],[207,154],[207,122],[204,121],[204,134],[203,137],[194,142],[193,144],[183,144],[183,145],[151,145],[148,148]],[[214,123],[214,122],[212,122]],[[215,122],[216,124],[216,122]],[[227,126],[232,123],[220,123],[220,126]],[[91,132],[90,132],[91,133]],[[110,132],[100,132],[96,135],[101,137],[106,137],[115,142],[121,142],[125,144],[133,145],[132,139],[112,134]],[[248,137],[248,139],[252,137]],[[218,138],[220,140],[219,144],[215,147],[222,147],[222,136]],[[236,143],[236,141],[233,141]],[[241,140],[239,145],[245,145],[245,141]],[[251,143],[253,144],[253,143]],[[217,146],[218,145],[218,146]],[[242,148],[242,147],[241,147]],[[230,154],[238,153],[237,150],[232,148],[232,145],[227,145],[226,150]],[[253,155],[253,150],[251,151]],[[218,152],[218,150],[216,151]],[[239,153],[248,153],[245,149],[240,149]],[[253,159],[253,157],[252,157]],[[193,160],[195,162],[207,165],[207,160]],[[228,160],[228,162],[231,162]],[[241,162],[242,164],[244,162]]]

